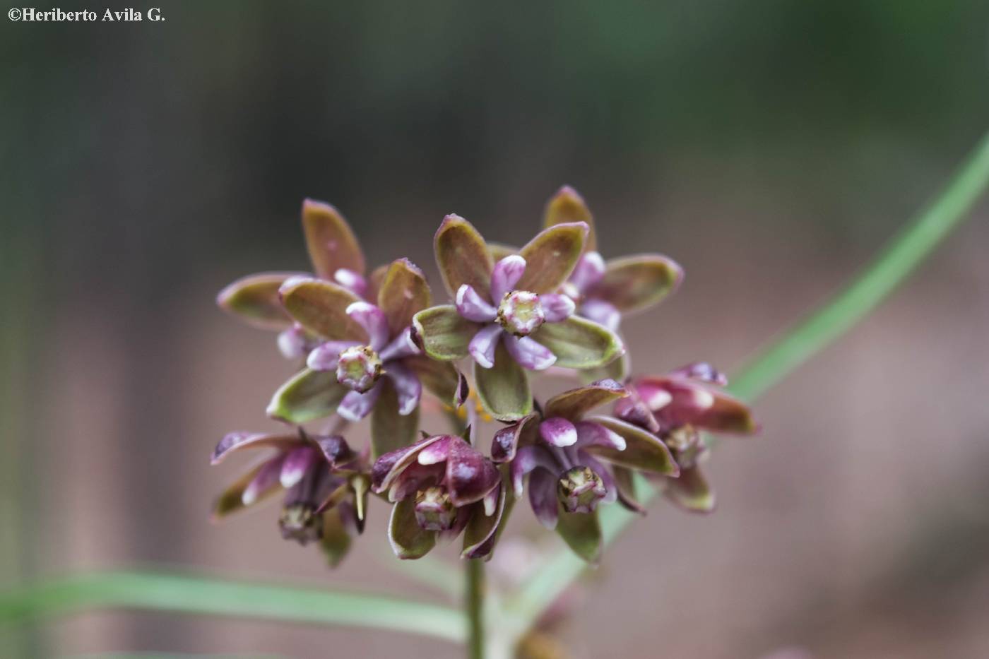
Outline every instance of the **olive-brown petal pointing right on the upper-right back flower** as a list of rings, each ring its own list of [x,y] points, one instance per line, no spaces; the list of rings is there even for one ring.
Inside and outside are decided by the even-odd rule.
[[[604,278],[592,295],[610,302],[623,314],[632,314],[661,302],[682,279],[682,268],[666,256],[624,256],[608,261]]]

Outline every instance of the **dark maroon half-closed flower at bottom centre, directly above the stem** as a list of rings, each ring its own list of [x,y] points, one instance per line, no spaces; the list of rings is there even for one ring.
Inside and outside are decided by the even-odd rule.
[[[464,533],[464,558],[494,549],[504,486],[494,463],[455,435],[424,437],[382,455],[372,487],[395,503],[389,539],[399,558],[420,558],[438,538]]]

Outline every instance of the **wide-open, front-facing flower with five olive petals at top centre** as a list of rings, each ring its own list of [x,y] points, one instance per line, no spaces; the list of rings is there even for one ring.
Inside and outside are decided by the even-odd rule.
[[[614,332],[574,317],[573,301],[558,293],[586,233],[584,223],[551,227],[495,263],[463,218],[447,216],[436,232],[436,262],[455,304],[416,314],[414,336],[433,359],[473,358],[478,396],[495,419],[532,411],[528,371],[595,368],[624,351]]]

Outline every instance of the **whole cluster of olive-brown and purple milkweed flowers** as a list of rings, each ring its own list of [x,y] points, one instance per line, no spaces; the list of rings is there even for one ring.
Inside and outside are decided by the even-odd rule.
[[[464,558],[489,558],[527,494],[539,522],[596,562],[598,508],[642,513],[637,475],[687,510],[713,510],[700,432],[757,425],[706,363],[629,377],[621,321],[674,291],[682,270],[657,254],[605,260],[573,189],[550,200],[543,230],[518,248],[447,216],[434,249],[448,304],[433,304],[405,258],[368,274],[333,207],[304,202],[303,229],[313,273],[251,275],[218,298],[247,323],[279,330],[278,348],[301,370],[267,409],[287,431],[230,433],[214,451],[218,463],[268,449],[221,495],[215,517],[284,491],[283,536],[318,542],[335,564],[364,529],[374,494],[393,506],[389,540],[400,558],[458,536]],[[530,381],[547,370],[587,384],[540,405]],[[447,413],[448,433],[423,429],[425,394]],[[371,441],[354,451],[341,433],[365,418]],[[500,424],[490,448],[486,420]],[[306,428],[318,423],[319,432]]]

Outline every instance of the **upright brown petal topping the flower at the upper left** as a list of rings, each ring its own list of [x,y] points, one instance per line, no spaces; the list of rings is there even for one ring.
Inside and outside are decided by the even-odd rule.
[[[360,243],[335,208],[313,199],[305,200],[303,232],[317,275],[332,279],[339,268],[364,273],[364,254]]]

